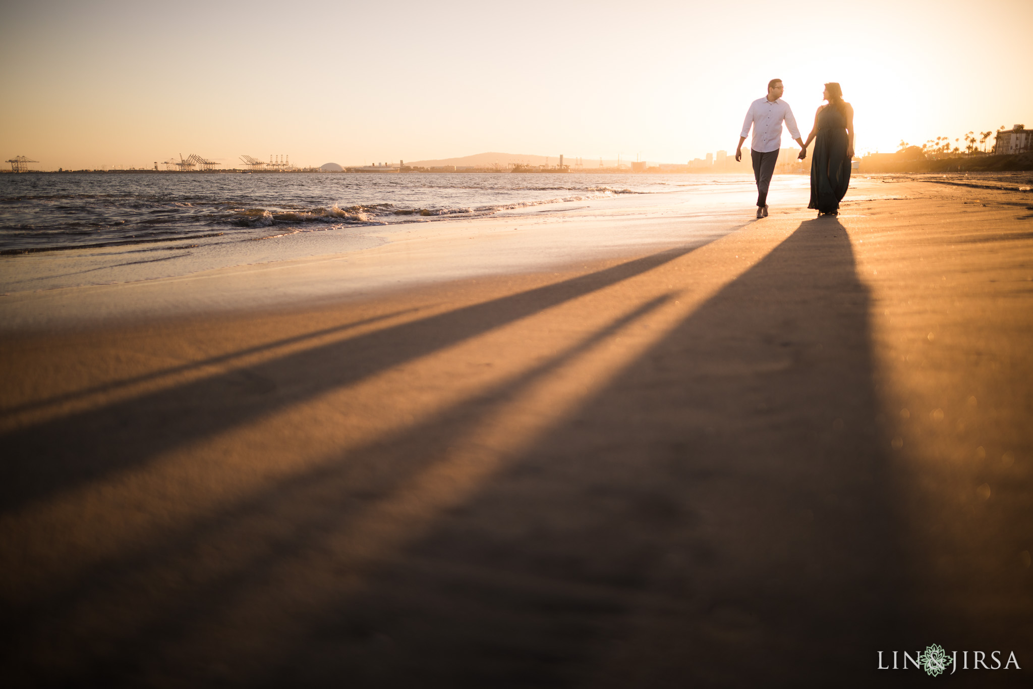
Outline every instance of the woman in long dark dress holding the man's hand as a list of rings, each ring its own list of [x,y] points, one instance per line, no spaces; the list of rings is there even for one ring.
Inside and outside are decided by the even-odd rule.
[[[839,202],[850,186],[850,160],[853,158],[853,107],[843,100],[839,84],[829,82],[821,97],[828,101],[818,106],[814,129],[807,137],[800,157],[807,156],[807,147],[815,136],[811,160],[811,203],[818,217],[838,215]]]

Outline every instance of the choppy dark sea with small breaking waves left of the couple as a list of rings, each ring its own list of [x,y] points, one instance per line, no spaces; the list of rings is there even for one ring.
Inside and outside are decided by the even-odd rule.
[[[699,178],[699,179],[696,179]],[[0,175],[0,255],[193,247],[662,193],[703,176],[549,174]]]

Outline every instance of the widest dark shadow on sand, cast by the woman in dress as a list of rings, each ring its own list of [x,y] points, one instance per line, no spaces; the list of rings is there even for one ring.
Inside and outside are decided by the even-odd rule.
[[[869,301],[842,224],[803,222],[362,600],[328,604],[278,677],[885,680],[877,651],[909,647]]]

